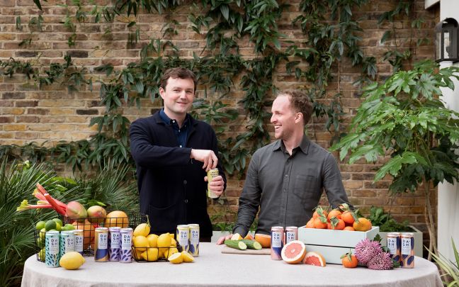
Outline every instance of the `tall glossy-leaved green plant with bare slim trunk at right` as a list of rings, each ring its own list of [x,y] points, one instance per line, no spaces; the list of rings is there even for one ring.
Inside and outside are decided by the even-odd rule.
[[[382,84],[364,89],[363,102],[356,111],[348,134],[331,150],[340,150],[341,160],[352,164],[361,157],[382,164],[374,181],[392,176],[390,193],[424,191],[429,251],[436,250],[431,190],[439,182],[459,180],[459,113],[446,108],[440,87],[454,89],[458,67],[439,69],[432,61],[416,63],[413,69],[399,71]],[[431,253],[429,252],[429,259]]]

